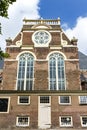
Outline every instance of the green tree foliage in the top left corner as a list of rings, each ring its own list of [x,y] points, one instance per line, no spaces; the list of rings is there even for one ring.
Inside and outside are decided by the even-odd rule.
[[[13,2],[16,2],[16,0],[0,0],[0,16],[8,17],[8,7]]]

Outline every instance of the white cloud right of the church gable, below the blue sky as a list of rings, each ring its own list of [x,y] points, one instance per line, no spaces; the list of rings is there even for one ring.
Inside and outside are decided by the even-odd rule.
[[[73,28],[65,30],[66,35],[72,39],[73,36],[78,39],[79,51],[87,55],[87,17],[79,17]]]

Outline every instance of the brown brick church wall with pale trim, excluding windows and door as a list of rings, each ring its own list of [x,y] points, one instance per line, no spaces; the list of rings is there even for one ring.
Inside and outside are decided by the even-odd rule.
[[[26,22],[30,22],[29,25]],[[31,24],[31,23],[34,24]],[[52,23],[54,22],[54,24]],[[0,98],[8,98],[8,112],[0,112],[0,129],[28,130],[39,129],[40,96],[50,97],[50,129],[55,130],[82,130],[81,116],[87,115],[86,105],[80,105],[79,96],[87,96],[86,90],[82,91],[80,81],[79,59],[77,40],[71,41],[61,29],[58,20],[25,20],[22,31],[12,41],[6,40],[6,51],[10,54],[5,59],[3,68],[3,83],[0,84]],[[35,31],[46,30],[51,34],[48,47],[35,47],[32,35]],[[17,43],[20,43],[19,46]],[[67,44],[63,44],[66,42]],[[23,52],[34,55],[34,80],[32,90],[17,90],[17,75],[19,56]],[[65,90],[50,90],[49,86],[49,55],[60,53],[65,57]],[[29,96],[30,103],[18,103],[18,97]],[[60,104],[60,96],[69,96],[70,104]],[[1,108],[0,108],[1,109]],[[28,116],[28,126],[17,126],[17,117]],[[72,117],[72,126],[60,126],[59,117]],[[23,123],[23,122],[22,122]],[[87,126],[86,126],[87,128]],[[44,129],[44,128],[42,128]]]

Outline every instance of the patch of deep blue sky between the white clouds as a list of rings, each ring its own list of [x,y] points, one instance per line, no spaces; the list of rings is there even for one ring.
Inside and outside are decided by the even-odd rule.
[[[40,15],[43,18],[61,18],[61,22],[73,27],[79,16],[87,16],[87,0],[41,0]]]

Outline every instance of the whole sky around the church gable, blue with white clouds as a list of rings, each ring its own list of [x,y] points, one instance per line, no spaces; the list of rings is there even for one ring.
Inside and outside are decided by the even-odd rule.
[[[5,39],[12,39],[21,31],[23,19],[61,19],[61,27],[72,39],[78,39],[78,49],[87,55],[87,0],[16,0],[9,6],[9,19],[0,17],[2,34],[0,47],[6,48]]]

